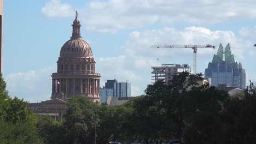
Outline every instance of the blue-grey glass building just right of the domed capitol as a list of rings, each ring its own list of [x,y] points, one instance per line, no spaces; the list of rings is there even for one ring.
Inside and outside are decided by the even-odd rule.
[[[101,103],[105,103],[108,97],[131,97],[131,83],[107,80],[101,88]]]

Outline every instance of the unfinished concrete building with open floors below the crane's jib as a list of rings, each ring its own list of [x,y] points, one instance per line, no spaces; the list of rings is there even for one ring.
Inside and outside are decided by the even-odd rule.
[[[152,71],[152,83],[158,80],[164,80],[168,82],[172,80],[174,75],[178,75],[182,72],[191,73],[191,67],[188,64],[162,64],[161,66],[151,67]]]

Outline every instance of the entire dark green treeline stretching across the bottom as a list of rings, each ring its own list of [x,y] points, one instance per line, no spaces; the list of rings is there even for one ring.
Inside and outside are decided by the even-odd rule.
[[[256,89],[230,96],[208,85],[201,74],[182,73],[170,83],[148,85],[145,94],[120,106],[84,97],[68,101],[66,121],[38,118],[27,103],[11,99],[0,81],[0,140],[3,143],[131,143],[179,139],[181,143],[256,143]],[[96,129],[95,129],[96,128]]]

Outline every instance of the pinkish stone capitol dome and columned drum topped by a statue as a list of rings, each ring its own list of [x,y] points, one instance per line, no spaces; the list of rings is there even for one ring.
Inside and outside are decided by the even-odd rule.
[[[91,47],[80,35],[78,15],[75,16],[72,27],[71,39],[61,47],[57,73],[51,75],[51,99],[82,95],[88,100],[100,102],[101,75],[95,73]]]

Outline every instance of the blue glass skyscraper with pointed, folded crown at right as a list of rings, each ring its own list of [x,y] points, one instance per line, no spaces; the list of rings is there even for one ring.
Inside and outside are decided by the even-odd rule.
[[[205,78],[211,78],[212,86],[216,87],[223,83],[241,89],[246,87],[245,69],[232,54],[230,44],[225,49],[222,44],[219,45],[217,55],[213,56],[212,62],[205,69]]]

